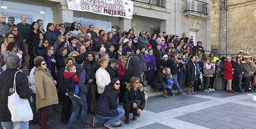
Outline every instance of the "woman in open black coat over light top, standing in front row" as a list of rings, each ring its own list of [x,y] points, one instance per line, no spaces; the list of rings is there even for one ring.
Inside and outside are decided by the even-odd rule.
[[[193,93],[193,90],[194,90],[193,86],[198,76],[198,71],[197,71],[195,61],[196,61],[196,57],[194,55],[191,55],[189,58],[189,61],[186,64],[186,78],[189,81],[189,89],[188,89],[189,95],[196,95]]]

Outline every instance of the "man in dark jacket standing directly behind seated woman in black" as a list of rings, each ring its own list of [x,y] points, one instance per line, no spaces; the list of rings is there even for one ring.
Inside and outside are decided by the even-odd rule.
[[[156,71],[155,71],[155,75],[158,73],[158,70],[160,68],[160,66],[162,65],[162,57],[163,57],[163,52],[161,50],[161,44],[157,44],[156,48],[153,51],[153,55],[155,56],[155,64],[156,64]]]

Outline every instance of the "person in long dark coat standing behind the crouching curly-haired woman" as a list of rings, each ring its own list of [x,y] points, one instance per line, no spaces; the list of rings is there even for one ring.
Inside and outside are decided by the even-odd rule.
[[[131,77],[140,78],[141,82],[141,66],[140,59],[134,54],[133,49],[127,49],[128,59],[125,63],[125,74],[124,74],[124,82],[130,83]]]

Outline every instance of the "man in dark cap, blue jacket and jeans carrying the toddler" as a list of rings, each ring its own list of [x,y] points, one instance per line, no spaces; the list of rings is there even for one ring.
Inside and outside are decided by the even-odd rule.
[[[75,58],[76,63],[74,63],[74,65],[76,66],[76,69],[83,69],[83,61],[85,60],[83,55],[78,55]],[[79,87],[79,93],[81,98],[77,98],[75,97],[73,94],[75,93],[75,90],[68,90],[68,94],[69,94],[69,98],[72,101],[74,110],[71,114],[71,117],[69,119],[68,125],[67,125],[67,129],[73,129],[74,123],[76,122],[77,119],[77,114],[80,111],[80,106],[82,107],[81,111],[82,111],[82,115],[81,115],[81,128],[86,128],[86,127],[91,127],[91,124],[87,123],[87,102],[86,102],[86,98],[85,98],[85,93],[87,93],[87,88],[84,86],[84,82],[85,82],[85,76],[86,76],[86,72],[85,70],[82,70],[80,73],[78,73],[78,87]]]

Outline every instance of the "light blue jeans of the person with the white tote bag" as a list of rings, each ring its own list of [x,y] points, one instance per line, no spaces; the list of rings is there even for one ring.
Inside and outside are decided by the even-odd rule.
[[[1,122],[4,129],[29,129],[29,121],[23,122]]]

